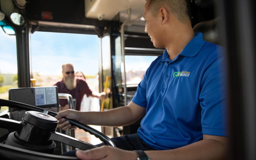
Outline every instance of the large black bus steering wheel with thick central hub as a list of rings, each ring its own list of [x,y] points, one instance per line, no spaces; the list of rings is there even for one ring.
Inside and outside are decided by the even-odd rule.
[[[65,134],[56,132],[58,120],[54,118],[57,113],[35,106],[19,103],[11,100],[0,99],[0,106],[26,110],[21,121],[15,121],[0,117],[0,128],[12,130],[0,140],[6,138],[5,143],[0,143],[0,155],[4,159],[28,159],[28,160],[56,160],[77,159],[70,156],[52,155],[56,146],[55,141],[67,144],[79,149],[90,149],[96,146],[77,140]],[[83,129],[103,141],[106,145],[115,147],[110,138],[88,125],[65,118],[71,125]]]

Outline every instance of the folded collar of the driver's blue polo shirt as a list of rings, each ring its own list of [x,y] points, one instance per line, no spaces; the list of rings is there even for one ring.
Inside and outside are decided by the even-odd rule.
[[[194,57],[201,50],[204,44],[205,41],[203,40],[203,34],[201,32],[196,33],[195,37],[184,47],[179,56]],[[166,49],[164,50],[162,61],[171,61]]]

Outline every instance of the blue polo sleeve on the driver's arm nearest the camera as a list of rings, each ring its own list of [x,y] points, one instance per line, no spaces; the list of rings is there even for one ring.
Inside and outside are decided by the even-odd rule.
[[[208,135],[227,136],[227,85],[224,56],[210,57],[206,66],[199,95],[202,133]]]

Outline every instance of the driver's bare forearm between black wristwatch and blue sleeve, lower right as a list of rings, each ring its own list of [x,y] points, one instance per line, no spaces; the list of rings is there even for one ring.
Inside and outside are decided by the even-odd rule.
[[[203,134],[203,140],[172,150],[145,151],[151,160],[224,160],[228,148],[228,137]]]

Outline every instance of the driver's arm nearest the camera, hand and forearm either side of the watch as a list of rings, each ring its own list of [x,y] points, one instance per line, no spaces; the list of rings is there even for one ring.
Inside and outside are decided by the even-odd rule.
[[[227,137],[204,134],[203,140],[184,147],[171,150],[150,150],[145,151],[145,153],[150,160],[224,160],[226,159],[227,145]],[[136,160],[138,157],[134,151],[109,146],[102,146],[85,151],[77,150],[76,156],[81,160]]]

